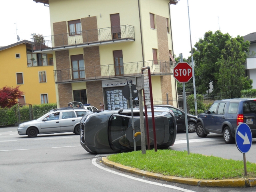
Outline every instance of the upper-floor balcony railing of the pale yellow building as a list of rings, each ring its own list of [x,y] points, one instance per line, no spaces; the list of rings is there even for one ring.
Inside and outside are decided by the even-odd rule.
[[[45,36],[39,42],[32,45],[32,50],[43,50],[49,48],[58,48],[66,46],[77,46],[82,44],[102,43],[108,41],[135,39],[134,26],[123,25],[108,28],[101,28],[95,30],[87,30],[52,36]]]

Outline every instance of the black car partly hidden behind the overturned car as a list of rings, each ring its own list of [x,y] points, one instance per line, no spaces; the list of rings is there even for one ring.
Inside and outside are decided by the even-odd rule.
[[[174,113],[177,123],[177,131],[186,130],[185,124],[185,112],[171,105],[154,105],[154,107],[166,107]],[[187,113],[188,118],[188,132],[192,133],[196,131],[197,116]]]

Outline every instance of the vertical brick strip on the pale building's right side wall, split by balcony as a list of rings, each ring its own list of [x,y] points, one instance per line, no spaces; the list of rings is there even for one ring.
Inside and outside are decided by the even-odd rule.
[[[165,17],[156,15],[156,28],[158,38],[158,59],[161,61],[169,61],[170,56]],[[172,84],[170,75],[161,76],[161,90],[163,99],[166,98],[166,93],[168,93],[169,98],[172,98]]]

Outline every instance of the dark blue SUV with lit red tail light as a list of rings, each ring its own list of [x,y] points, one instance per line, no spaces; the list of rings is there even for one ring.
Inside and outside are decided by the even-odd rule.
[[[206,137],[210,132],[222,134],[226,143],[235,142],[239,123],[246,123],[256,138],[256,98],[217,100],[209,110],[198,114],[196,134]]]

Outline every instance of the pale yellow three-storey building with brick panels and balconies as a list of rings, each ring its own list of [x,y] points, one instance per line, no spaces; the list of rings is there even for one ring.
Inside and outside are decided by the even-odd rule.
[[[170,5],[177,0],[34,0],[49,5],[52,36],[34,53],[52,53],[57,105],[129,108],[122,96],[150,67],[154,100],[177,98]]]

